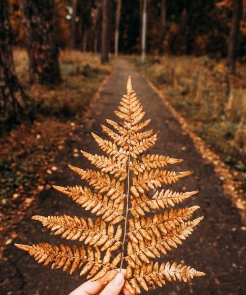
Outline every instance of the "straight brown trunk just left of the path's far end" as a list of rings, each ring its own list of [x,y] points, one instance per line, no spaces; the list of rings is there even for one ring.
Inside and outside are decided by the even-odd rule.
[[[102,0],[101,62],[109,61],[109,10],[110,0]]]

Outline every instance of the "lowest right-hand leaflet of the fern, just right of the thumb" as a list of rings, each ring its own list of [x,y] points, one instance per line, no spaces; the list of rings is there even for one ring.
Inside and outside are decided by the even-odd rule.
[[[149,291],[149,286],[155,289],[155,284],[158,287],[166,284],[166,281],[172,282],[184,281],[187,282],[194,277],[204,276],[205,273],[201,271],[196,271],[191,266],[177,265],[174,262],[171,266],[167,262],[162,263],[160,266],[156,262],[155,264],[151,262],[150,264],[143,264],[143,266],[137,266],[132,273],[131,266],[126,268],[126,283],[125,288],[130,293],[134,291],[139,294],[141,293],[141,286],[145,291]]]

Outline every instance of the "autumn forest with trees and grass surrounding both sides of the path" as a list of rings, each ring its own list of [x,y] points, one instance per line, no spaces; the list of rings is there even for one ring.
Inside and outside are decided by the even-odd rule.
[[[36,194],[50,188],[56,156],[87,124],[82,112],[118,56],[134,63],[219,156],[234,205],[245,207],[245,0],[0,5],[2,250]]]

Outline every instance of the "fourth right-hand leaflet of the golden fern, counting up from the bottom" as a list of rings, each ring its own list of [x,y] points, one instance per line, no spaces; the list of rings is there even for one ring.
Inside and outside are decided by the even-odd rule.
[[[152,199],[146,194],[142,194],[142,197],[131,195],[131,207],[129,211],[134,217],[139,218],[139,215],[145,215],[145,212],[150,212],[150,208],[160,209],[168,206],[175,206],[175,204],[183,202],[196,193],[198,193],[198,191],[178,193],[170,189],[164,192],[162,189],[160,192],[156,191]]]

